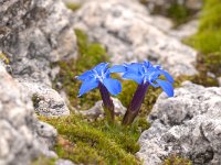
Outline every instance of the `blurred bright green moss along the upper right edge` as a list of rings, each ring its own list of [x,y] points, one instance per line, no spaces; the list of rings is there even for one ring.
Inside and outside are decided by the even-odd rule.
[[[207,76],[208,72],[213,73],[215,76],[221,76],[220,2],[220,0],[204,1],[199,31],[196,35],[185,41],[185,43],[201,52],[198,55],[197,67],[202,76]]]

